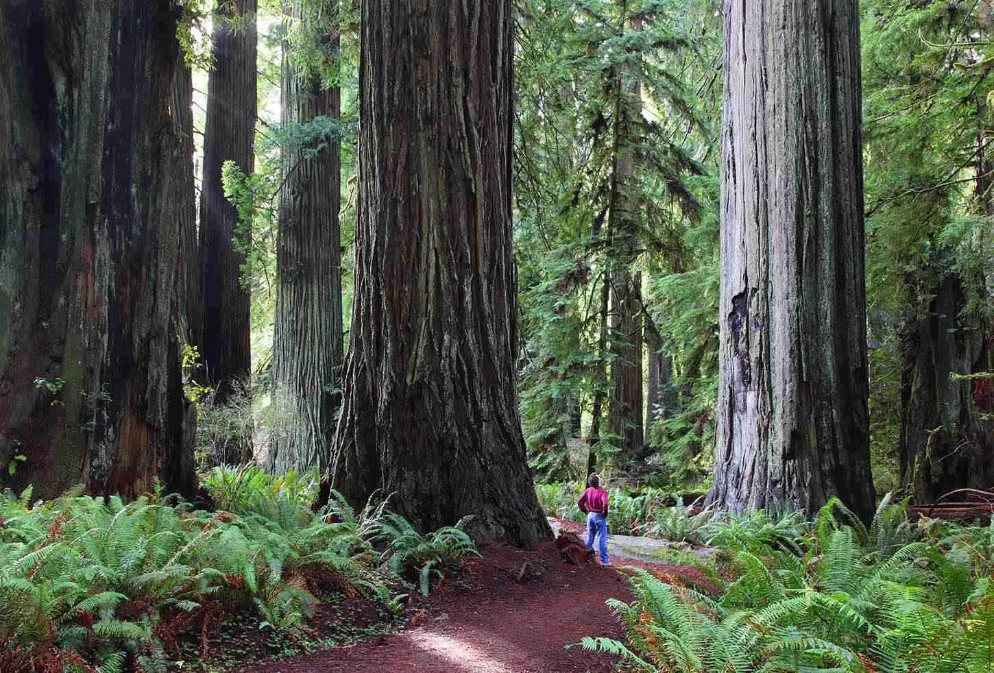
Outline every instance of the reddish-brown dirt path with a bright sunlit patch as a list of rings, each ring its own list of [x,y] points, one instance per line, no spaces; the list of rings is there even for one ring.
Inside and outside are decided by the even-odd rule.
[[[572,522],[554,524],[580,529]],[[248,656],[233,659],[219,651],[226,646],[215,646],[217,663],[205,661],[197,668],[248,673],[606,672],[613,670],[616,657],[592,654],[579,645],[566,646],[579,643],[586,635],[624,639],[624,629],[604,601],[631,599],[625,582],[625,574],[631,572],[628,567],[664,577],[703,579],[693,568],[620,558],[613,560],[617,565],[612,568],[578,567],[564,563],[552,542],[533,551],[484,542],[479,552],[480,558],[447,573],[426,598],[417,593],[400,622],[391,624],[390,617],[371,605],[347,599],[323,603],[312,625],[335,636],[332,632],[348,624],[354,636],[350,645],[316,647],[308,654],[293,656],[294,649],[288,644],[264,637],[255,637],[254,647],[251,642],[229,640],[227,649],[245,650]],[[528,576],[519,583],[517,577],[526,563]],[[403,630],[389,633],[398,628]],[[242,630],[251,631],[244,624]],[[320,646],[338,639],[318,637],[311,642]],[[249,655],[250,650],[255,650],[255,656]]]

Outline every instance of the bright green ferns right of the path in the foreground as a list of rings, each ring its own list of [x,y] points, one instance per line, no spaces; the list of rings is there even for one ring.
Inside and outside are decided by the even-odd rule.
[[[581,644],[654,671],[990,670],[994,524],[925,522],[921,539],[906,505],[885,497],[869,529],[834,499],[811,523],[712,524],[734,552],[720,597],[639,571],[634,601],[608,601],[629,643]]]

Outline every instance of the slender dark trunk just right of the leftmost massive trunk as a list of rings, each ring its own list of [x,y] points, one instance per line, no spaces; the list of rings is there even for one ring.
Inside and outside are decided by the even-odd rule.
[[[199,281],[204,323],[200,353],[208,385],[224,403],[251,372],[249,314],[251,297],[242,283],[244,251],[251,245],[244,227],[232,245],[238,212],[225,199],[222,166],[234,161],[246,175],[255,167],[256,0],[231,0],[214,15],[214,69],[208,80],[204,128],[204,182],[200,202]],[[232,14],[222,14],[231,11]],[[210,319],[208,319],[210,318]],[[231,441],[217,447],[220,462],[238,464],[248,447]]]

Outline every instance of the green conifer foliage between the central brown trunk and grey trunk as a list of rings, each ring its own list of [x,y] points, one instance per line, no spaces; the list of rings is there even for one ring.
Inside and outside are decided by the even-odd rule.
[[[608,285],[622,277],[632,284],[648,277],[643,284],[651,287],[659,277],[697,269],[698,260],[715,271],[717,281],[714,241],[687,237],[702,219],[717,222],[708,215],[717,203],[708,192],[710,183],[693,179],[707,171],[714,156],[716,134],[704,119],[717,117],[702,112],[717,110],[712,55],[720,54],[721,31],[701,26],[716,25],[716,7],[657,0],[519,3],[514,190],[522,311],[519,400],[529,461],[540,480],[576,476],[570,472],[568,440],[579,436],[580,413],[591,435],[596,426],[596,436],[590,436],[594,455],[624,459],[621,437],[605,431],[604,422],[612,358],[621,341],[614,328],[618,316],[608,308]],[[637,89],[641,96],[634,95]],[[619,177],[619,161],[629,160],[636,167],[633,175]],[[717,173],[717,164],[713,168]],[[684,280],[687,303],[676,307],[679,311],[698,304],[701,294],[698,287],[691,290],[696,277]],[[670,307],[658,310],[654,301],[632,306],[636,321],[652,320],[668,336]],[[710,338],[713,315],[708,323]],[[682,344],[667,342],[663,348],[677,354],[676,368],[690,381],[699,370],[686,367],[685,359],[700,356]],[[683,392],[682,406],[664,417],[686,414],[688,422],[703,416],[708,421],[695,442],[666,452],[680,470],[693,466],[676,475],[674,485],[683,479],[699,482],[710,459],[704,454],[713,415],[702,409],[714,404],[711,381],[700,391],[688,383]],[[592,418],[594,410],[601,418]],[[677,438],[654,434],[661,446]]]

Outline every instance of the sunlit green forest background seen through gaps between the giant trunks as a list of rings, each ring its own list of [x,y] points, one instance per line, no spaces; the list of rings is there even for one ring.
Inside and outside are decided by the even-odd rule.
[[[975,1],[861,5],[871,456],[882,493],[913,483],[914,456],[929,442],[980,456],[992,447],[994,391],[976,375],[989,370],[992,335],[994,16]],[[280,152],[327,130],[320,119],[280,125],[288,24],[275,9],[259,7],[257,168],[231,183],[252,206],[244,281],[256,410],[272,372]],[[518,388],[531,466],[563,480],[582,471],[588,447],[592,466],[643,457],[647,444],[662,467],[653,485],[706,490],[718,389],[722,3],[522,0],[514,9]],[[328,128],[341,132],[346,316],[359,20],[343,19],[340,79],[324,84],[341,87],[341,119]],[[204,91],[206,73],[199,78]],[[280,415],[269,418],[257,432],[281,431]]]

